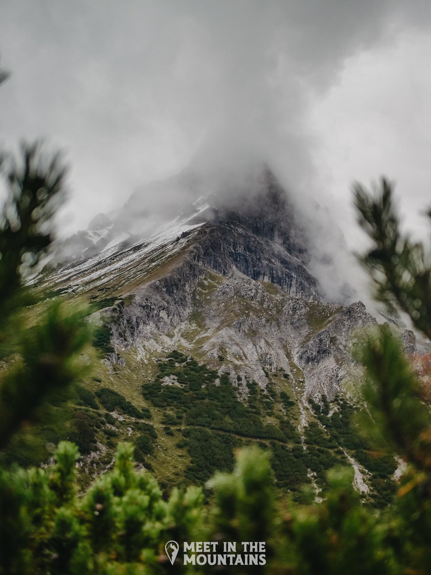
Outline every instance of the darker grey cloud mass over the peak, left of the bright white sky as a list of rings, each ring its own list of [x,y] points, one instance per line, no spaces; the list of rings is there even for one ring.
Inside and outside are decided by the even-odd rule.
[[[134,189],[150,201],[143,183],[190,164],[214,174],[267,162],[307,211],[319,193],[308,94],[336,82],[348,56],[430,21],[424,0],[3,2],[13,76],[0,139],[66,148],[63,233]]]

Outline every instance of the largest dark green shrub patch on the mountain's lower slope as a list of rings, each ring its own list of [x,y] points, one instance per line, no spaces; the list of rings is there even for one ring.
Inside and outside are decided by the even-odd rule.
[[[260,442],[267,440],[272,451],[271,465],[276,485],[295,492],[309,482],[308,469],[314,472],[318,484],[324,487],[326,471],[343,461],[339,453],[333,453],[339,443],[318,423],[311,422],[305,429],[307,450],[302,448],[297,427],[288,416],[278,415],[278,425],[262,423],[261,413],[274,413],[276,401],[281,401],[287,412],[295,405],[286,392],[278,395],[275,385],[268,384],[264,391],[257,382],[246,382],[249,392],[247,407],[238,398],[237,388],[230,384],[227,374],[222,374],[220,385],[216,385],[216,371],[198,365],[193,358],[187,359],[178,351],[168,355],[167,361],[161,361],[158,365],[159,373],[155,381],[144,384],[143,393],[156,408],[163,408],[162,423],[167,424],[164,427],[167,435],[174,434],[170,425],[178,425],[178,419],[167,409],[175,408],[180,412],[181,419],[184,413],[187,428],[183,430],[184,440],[176,445],[186,447],[191,457],[191,464],[186,466],[184,472],[186,480],[202,485],[214,471],[232,470],[233,449],[241,447],[246,438],[259,439]],[[166,377],[176,378],[178,385],[163,385],[162,380]],[[329,413],[326,397],[322,398],[322,403],[323,411]],[[316,405],[320,413],[321,407]],[[351,408],[349,404],[345,405],[346,409]],[[326,425],[332,430],[332,421],[322,413],[320,416],[325,417]],[[351,433],[349,423],[349,419],[343,419],[343,425]],[[364,445],[353,431],[352,437],[357,440],[357,446]],[[274,442],[274,439],[280,443]]]

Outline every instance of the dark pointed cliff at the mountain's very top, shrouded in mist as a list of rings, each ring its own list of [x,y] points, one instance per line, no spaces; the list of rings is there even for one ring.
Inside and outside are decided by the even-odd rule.
[[[257,193],[220,208],[214,223],[209,241],[202,244],[207,263],[223,251],[225,263],[252,279],[276,283],[298,297],[319,298],[317,281],[306,269],[305,236],[286,192],[269,170],[264,171]],[[217,269],[214,262],[212,266]]]

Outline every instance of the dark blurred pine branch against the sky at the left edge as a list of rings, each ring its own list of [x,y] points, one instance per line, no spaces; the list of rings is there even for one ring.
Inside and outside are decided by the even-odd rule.
[[[12,156],[2,159],[0,170],[7,200],[0,230],[0,331],[28,302],[29,293],[22,279],[51,244],[52,217],[64,197],[66,178],[60,155],[49,158],[40,143],[22,144],[21,162]]]

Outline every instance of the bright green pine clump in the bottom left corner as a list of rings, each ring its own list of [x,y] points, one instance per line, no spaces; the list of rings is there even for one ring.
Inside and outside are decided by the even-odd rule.
[[[77,450],[62,443],[51,469],[0,474],[0,573],[120,573],[141,563],[157,572],[164,542],[203,529],[202,494],[175,490],[163,501],[148,472],[133,469],[133,448],[76,496]],[[128,571],[129,573],[130,571]]]

